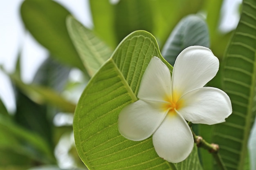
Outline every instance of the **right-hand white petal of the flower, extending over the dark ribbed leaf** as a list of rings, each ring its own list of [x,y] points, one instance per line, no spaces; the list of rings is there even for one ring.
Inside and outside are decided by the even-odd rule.
[[[222,90],[203,87],[184,95],[179,113],[195,124],[218,124],[232,113],[229,96]]]

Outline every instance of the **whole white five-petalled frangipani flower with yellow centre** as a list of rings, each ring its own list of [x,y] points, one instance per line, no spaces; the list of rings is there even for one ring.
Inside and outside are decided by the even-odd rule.
[[[190,46],[178,55],[172,77],[168,67],[153,57],[141,79],[139,100],[121,110],[121,135],[133,141],[153,135],[159,157],[173,163],[186,159],[194,143],[186,120],[218,124],[232,112],[225,92],[204,87],[218,68],[217,57],[202,46]]]

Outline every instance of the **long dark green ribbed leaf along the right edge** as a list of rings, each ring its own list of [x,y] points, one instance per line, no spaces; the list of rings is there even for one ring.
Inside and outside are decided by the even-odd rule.
[[[247,143],[255,119],[256,1],[244,0],[237,29],[223,58],[222,83],[233,113],[214,127],[213,139],[228,170],[243,170]]]

